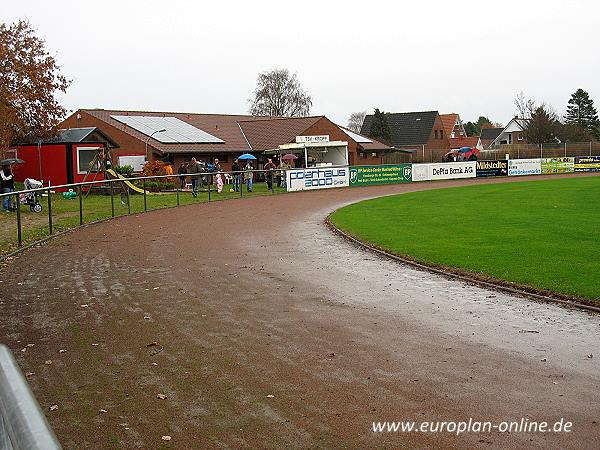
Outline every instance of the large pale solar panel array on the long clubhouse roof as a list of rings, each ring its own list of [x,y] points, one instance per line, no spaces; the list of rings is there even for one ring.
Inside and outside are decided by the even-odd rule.
[[[223,144],[225,141],[177,117],[110,116],[163,144]],[[165,130],[158,133],[160,130]]]

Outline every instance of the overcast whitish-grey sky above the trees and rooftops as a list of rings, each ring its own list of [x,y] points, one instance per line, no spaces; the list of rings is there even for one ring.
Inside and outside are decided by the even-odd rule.
[[[2,0],[73,84],[69,109],[246,113],[259,72],[288,68],[312,114],[437,109],[506,123],[520,91],[559,114],[600,107],[600,2]]]

